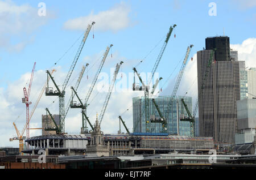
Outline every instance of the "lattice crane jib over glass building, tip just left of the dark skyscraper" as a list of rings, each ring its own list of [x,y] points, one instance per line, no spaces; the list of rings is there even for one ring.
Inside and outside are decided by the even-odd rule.
[[[175,99],[175,96],[176,96],[176,93],[177,93],[177,89],[179,88],[180,81],[181,81],[181,78],[183,76],[183,72],[185,70],[185,66],[187,65],[188,57],[189,57],[189,54],[191,52],[191,48],[192,47],[193,47],[193,45],[190,45],[187,48],[187,52],[185,54],[184,61],[183,61],[182,65],[181,65],[181,68],[180,68],[180,71],[179,71],[179,75],[177,76],[177,80],[176,80],[176,83],[174,85],[174,90],[172,91],[170,102],[168,103],[167,112],[165,114],[166,119],[168,119],[168,117],[169,117],[170,109],[171,109],[172,104],[174,103],[174,99]]]

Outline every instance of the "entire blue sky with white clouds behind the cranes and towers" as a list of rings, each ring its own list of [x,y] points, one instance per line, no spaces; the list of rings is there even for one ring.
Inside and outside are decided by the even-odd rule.
[[[143,92],[131,91],[132,69],[136,67],[141,75],[151,72],[171,25],[177,26],[156,70],[157,76],[163,78],[159,83],[159,89],[162,88],[160,96],[171,95],[187,46],[193,44],[177,95],[184,96],[187,92],[195,104],[196,52],[205,47],[205,38],[210,36],[229,36],[230,47],[238,50],[238,59],[245,61],[246,67],[256,67],[255,8],[253,0],[0,0],[0,147],[18,147],[18,142],[9,142],[9,138],[16,136],[13,122],[19,131],[26,122],[23,88],[28,88],[34,62],[30,110],[46,82],[46,70],[56,70],[53,77],[62,87],[88,24],[96,22],[65,89],[65,103],[71,96],[70,87],[75,85],[82,65],[89,63],[77,91],[84,100],[106,47],[113,44],[89,98],[87,110],[94,123],[104,104],[115,65],[123,61],[101,123],[102,131],[108,134],[117,133],[118,115],[122,115],[132,130],[132,98],[143,96]],[[102,83],[105,83],[103,88]],[[52,114],[58,114],[57,97],[42,96],[30,127],[42,126],[45,108]],[[80,110],[70,109],[65,119],[65,131],[78,134],[80,127]],[[123,127],[122,131],[125,132]],[[30,136],[41,133],[41,130],[31,130]]]

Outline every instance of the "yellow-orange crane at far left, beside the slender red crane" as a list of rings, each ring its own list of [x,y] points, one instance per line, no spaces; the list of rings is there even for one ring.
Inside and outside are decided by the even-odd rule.
[[[53,69],[53,70],[51,71],[51,74],[53,74],[54,71],[56,71],[56,70]],[[48,80],[49,80],[49,79],[48,79]],[[34,114],[34,112],[35,112],[35,110],[36,110],[36,107],[38,106],[38,103],[39,103],[39,101],[40,101],[40,99],[41,99],[41,97],[42,97],[42,95],[43,95],[43,93],[44,93],[44,89],[46,89],[46,85],[47,85],[47,81],[46,81],[46,83],[44,83],[44,86],[43,86],[43,88],[42,88],[42,91],[40,92],[40,95],[38,96],[38,99],[36,100],[36,103],[35,103],[33,109],[32,109],[31,112],[30,112],[29,121],[28,121],[28,122],[26,121],[26,123],[25,123],[25,125],[24,125],[23,130],[22,130],[21,133],[19,132],[19,130],[18,130],[18,128],[16,127],[15,123],[13,123],[17,136],[14,137],[14,138],[10,138],[10,141],[12,142],[13,140],[19,140],[19,152],[20,152],[20,153],[22,153],[22,151],[24,150],[24,142],[23,142],[23,140],[26,139],[26,136],[23,136],[23,134],[24,134],[25,130],[27,129],[27,123],[30,123],[30,120],[31,120],[31,118],[32,118],[32,115]],[[31,129],[42,129],[42,128],[29,128],[29,129],[31,130]],[[28,138],[27,138],[27,139],[28,139]],[[23,153],[22,153],[22,154],[23,154]]]

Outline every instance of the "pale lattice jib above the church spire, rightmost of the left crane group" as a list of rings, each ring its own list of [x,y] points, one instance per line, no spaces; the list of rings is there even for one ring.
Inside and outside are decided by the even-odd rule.
[[[119,72],[119,68],[120,66],[122,65],[123,61],[121,61],[119,64],[117,63],[117,66],[115,66],[115,72],[114,72],[114,76],[113,76],[113,79],[112,79],[112,83],[110,84],[110,87],[109,87],[109,92],[106,96],[106,99],[105,99],[105,102],[103,104],[103,107],[102,107],[102,110],[101,110],[101,114],[100,114],[100,125],[101,125],[101,121],[104,117],[104,114],[105,114],[105,111],[106,111],[106,107],[108,106],[108,103],[109,103],[109,98],[112,94],[112,90],[113,90],[113,87],[114,87],[114,84],[115,84],[115,80],[117,79],[117,74]]]

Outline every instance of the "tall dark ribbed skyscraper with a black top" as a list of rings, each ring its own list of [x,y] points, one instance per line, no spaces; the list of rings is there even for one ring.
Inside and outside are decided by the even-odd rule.
[[[229,37],[205,39],[206,50],[197,52],[200,136],[233,143],[236,101],[240,100],[240,63],[230,57]],[[209,64],[210,53],[213,61]]]

